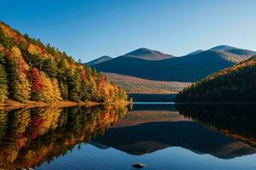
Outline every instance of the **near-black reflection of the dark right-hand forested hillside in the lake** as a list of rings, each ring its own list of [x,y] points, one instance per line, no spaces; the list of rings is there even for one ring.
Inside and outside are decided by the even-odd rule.
[[[185,117],[256,146],[256,105],[177,105]]]

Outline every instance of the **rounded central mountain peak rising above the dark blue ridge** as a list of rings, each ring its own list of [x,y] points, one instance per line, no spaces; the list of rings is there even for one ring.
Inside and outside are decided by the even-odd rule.
[[[134,57],[137,59],[145,59],[145,60],[160,60],[160,59],[169,59],[173,57],[170,54],[163,54],[160,51],[151,50],[148,48],[138,48],[134,51],[131,51],[128,54],[125,54],[124,56]]]

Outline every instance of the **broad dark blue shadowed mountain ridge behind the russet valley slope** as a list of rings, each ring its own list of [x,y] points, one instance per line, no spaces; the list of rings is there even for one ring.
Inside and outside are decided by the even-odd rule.
[[[237,50],[238,48],[232,48],[233,51],[235,49]],[[230,51],[230,48],[225,50]],[[242,49],[239,50],[242,51]],[[98,71],[112,72],[149,80],[196,82],[216,71],[235,65],[255,53],[252,51],[248,53],[247,50],[244,50],[243,53],[247,55],[237,55],[237,53],[231,54],[223,49],[213,48],[202,51],[201,53],[182,57],[148,60],[147,53],[139,53],[140,51],[135,50],[129,54],[93,66]],[[142,51],[144,51],[144,48]],[[134,57],[132,54],[137,54],[137,56]],[[143,57],[140,57],[140,55]]]

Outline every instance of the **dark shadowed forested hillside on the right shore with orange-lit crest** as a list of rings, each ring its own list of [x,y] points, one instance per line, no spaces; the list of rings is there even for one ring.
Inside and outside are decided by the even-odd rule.
[[[256,56],[195,82],[177,102],[255,102]]]

